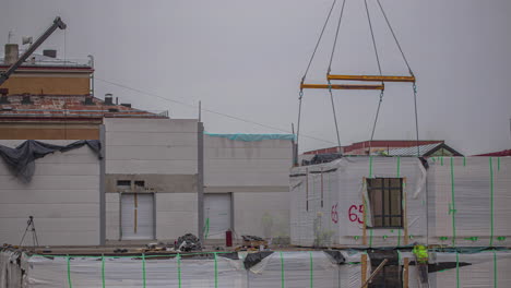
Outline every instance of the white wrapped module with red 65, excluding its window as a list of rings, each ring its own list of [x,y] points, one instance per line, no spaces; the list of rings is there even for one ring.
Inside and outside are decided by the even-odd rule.
[[[366,190],[370,178],[403,180],[402,228],[370,228],[371,203]],[[296,167],[290,190],[292,244],[401,247],[426,241],[426,169],[418,158],[344,157]]]

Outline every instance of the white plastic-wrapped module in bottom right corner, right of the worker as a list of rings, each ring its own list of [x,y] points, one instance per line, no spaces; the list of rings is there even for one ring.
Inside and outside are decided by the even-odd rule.
[[[511,287],[510,251],[431,252],[430,266],[439,267],[429,272],[430,287]]]

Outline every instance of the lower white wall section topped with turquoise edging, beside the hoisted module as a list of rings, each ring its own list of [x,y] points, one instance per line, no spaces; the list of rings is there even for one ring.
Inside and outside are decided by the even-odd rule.
[[[204,136],[205,193],[233,193],[236,235],[289,236],[293,143]]]

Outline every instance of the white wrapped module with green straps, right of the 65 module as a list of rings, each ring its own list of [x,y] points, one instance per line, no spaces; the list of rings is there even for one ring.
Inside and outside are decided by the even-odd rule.
[[[511,245],[511,157],[428,160],[429,244]]]

